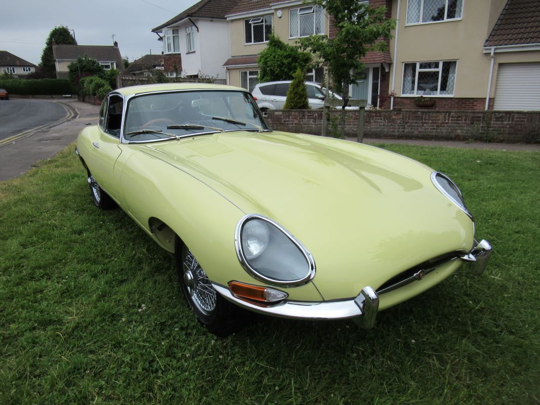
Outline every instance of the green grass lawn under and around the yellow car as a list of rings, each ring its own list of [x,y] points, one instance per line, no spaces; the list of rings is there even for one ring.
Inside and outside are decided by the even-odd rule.
[[[172,257],[93,206],[73,147],[0,183],[0,404],[539,403],[540,153],[382,146],[449,174],[494,254],[368,332],[262,318],[217,339]]]

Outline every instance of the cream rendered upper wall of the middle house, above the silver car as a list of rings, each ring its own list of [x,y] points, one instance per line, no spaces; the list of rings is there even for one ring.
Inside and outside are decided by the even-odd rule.
[[[296,45],[296,40],[299,38],[289,39],[289,10],[301,7],[302,4],[294,6],[279,8],[275,10],[261,11],[257,16],[272,15],[272,29],[274,34],[279,37],[283,42]],[[281,10],[281,18],[278,18],[278,10]],[[246,18],[238,18],[230,20],[230,35],[231,35],[231,56],[240,55],[256,55],[260,51],[266,48],[266,43],[262,44],[246,44],[246,38],[244,33],[244,20],[247,18],[253,18],[249,16]],[[328,18],[325,20],[325,33],[328,35]]]

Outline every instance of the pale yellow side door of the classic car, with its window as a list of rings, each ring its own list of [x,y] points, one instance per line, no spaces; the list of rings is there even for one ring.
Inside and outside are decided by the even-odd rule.
[[[121,152],[119,144],[123,107],[124,99],[120,95],[111,95],[105,100],[99,118],[99,138],[92,142],[90,161],[87,162],[98,184],[117,201],[114,164]]]

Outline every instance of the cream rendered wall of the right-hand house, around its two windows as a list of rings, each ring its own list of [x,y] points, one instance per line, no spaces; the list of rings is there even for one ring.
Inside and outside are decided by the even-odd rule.
[[[427,24],[406,25],[407,0],[401,0],[394,90],[401,95],[403,63],[457,60],[454,97],[481,98],[487,94],[490,55],[483,45],[496,21],[504,0],[463,0],[462,19]],[[392,8],[396,18],[397,1]],[[394,57],[395,40],[390,43]],[[392,85],[392,83],[390,83]]]

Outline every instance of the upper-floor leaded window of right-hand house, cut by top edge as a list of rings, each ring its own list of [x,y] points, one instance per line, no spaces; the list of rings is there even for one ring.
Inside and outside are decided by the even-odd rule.
[[[409,0],[407,24],[431,23],[461,18],[463,0]]]

